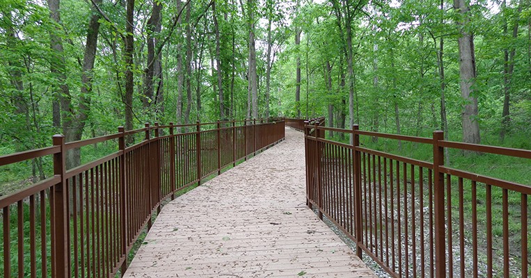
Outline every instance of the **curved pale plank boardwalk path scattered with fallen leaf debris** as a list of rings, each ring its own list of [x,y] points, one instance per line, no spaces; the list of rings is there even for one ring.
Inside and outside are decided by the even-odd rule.
[[[166,204],[125,277],[375,277],[306,206],[303,134]]]

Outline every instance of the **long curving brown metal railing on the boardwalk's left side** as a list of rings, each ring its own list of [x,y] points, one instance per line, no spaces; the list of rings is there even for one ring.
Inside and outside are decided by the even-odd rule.
[[[0,198],[2,277],[111,277],[164,199],[283,140],[283,120],[145,124],[0,156],[0,166],[53,156],[54,176]],[[176,132],[184,131],[184,132]],[[143,140],[126,146],[128,136]],[[68,149],[118,140],[117,152],[72,170]],[[26,213],[29,211],[29,213]]]

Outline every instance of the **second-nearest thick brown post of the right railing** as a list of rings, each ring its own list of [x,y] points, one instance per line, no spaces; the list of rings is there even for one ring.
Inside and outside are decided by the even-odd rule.
[[[360,152],[356,149],[360,145],[360,135],[357,131],[360,129],[358,124],[352,126],[352,160],[354,165],[354,221],[355,221],[355,233],[356,233],[356,254],[361,258],[361,164],[360,164]]]

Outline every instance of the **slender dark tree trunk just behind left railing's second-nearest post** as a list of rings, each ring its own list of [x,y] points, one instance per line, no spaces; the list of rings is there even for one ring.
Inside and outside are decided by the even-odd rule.
[[[134,79],[133,79],[133,52],[134,52],[134,0],[127,0],[125,16],[125,51],[124,60],[125,66],[125,129],[133,129],[133,92],[134,92]],[[127,143],[132,144],[134,138],[129,136]]]

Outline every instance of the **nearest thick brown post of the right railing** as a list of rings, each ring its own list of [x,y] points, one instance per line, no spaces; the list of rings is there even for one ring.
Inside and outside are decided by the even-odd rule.
[[[445,198],[444,173],[439,166],[444,165],[444,147],[439,140],[444,140],[443,131],[434,131],[434,211],[435,211],[435,277],[446,277],[445,254]],[[451,250],[450,250],[451,252]]]

